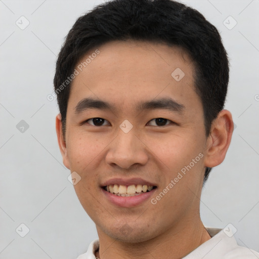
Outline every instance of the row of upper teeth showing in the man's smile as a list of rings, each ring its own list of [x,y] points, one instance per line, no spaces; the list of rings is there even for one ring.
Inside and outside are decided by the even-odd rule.
[[[141,193],[141,192],[147,192],[151,191],[154,188],[154,186],[148,186],[148,185],[107,185],[106,190],[111,193],[119,193],[119,194],[135,194]]]

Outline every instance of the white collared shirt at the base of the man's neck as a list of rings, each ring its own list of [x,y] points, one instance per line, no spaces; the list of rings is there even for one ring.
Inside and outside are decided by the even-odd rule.
[[[201,244],[183,259],[258,259],[259,253],[239,246],[231,230],[225,234],[222,229],[206,228],[211,239]],[[95,252],[99,249],[99,239],[94,240],[86,253],[77,259],[96,259]],[[158,258],[160,259],[160,258]]]

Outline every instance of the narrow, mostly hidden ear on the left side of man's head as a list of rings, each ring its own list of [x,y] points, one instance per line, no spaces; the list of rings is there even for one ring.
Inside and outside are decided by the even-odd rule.
[[[57,137],[58,137],[59,149],[60,149],[61,155],[63,157],[63,164],[68,169],[70,169],[69,160],[68,160],[68,156],[67,156],[66,141],[65,141],[65,138],[64,138],[63,132],[62,132],[62,122],[61,122],[60,113],[56,116],[56,132],[57,132]]]

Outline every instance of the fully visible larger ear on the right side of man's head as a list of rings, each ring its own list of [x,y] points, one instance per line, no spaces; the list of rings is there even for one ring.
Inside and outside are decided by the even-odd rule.
[[[228,110],[222,110],[212,122],[207,138],[206,167],[214,167],[223,162],[230,145],[234,123]]]

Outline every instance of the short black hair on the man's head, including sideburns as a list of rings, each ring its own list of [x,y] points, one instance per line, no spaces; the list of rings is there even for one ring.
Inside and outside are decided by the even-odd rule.
[[[63,134],[71,85],[68,81],[64,87],[64,82],[78,61],[109,41],[128,39],[179,46],[189,54],[207,137],[213,119],[224,108],[229,81],[227,53],[218,30],[202,14],[172,0],[112,0],[76,20],[58,55],[54,77]],[[210,170],[205,170],[204,183]]]

